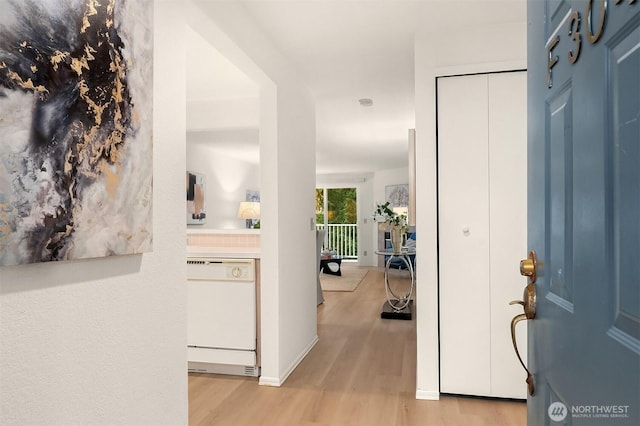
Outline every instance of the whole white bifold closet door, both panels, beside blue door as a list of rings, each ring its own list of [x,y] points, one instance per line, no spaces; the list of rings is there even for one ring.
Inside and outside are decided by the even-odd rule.
[[[526,398],[510,333],[522,307],[509,305],[526,285],[526,125],[525,72],[438,79],[443,393]]]

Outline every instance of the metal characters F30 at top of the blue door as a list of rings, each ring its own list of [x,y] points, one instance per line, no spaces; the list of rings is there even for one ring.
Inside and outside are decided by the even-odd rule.
[[[615,0],[616,5],[619,5],[624,0]],[[594,7],[594,3],[598,0],[587,1],[587,10],[585,15],[587,17],[584,29],[582,28],[582,15],[579,11],[574,11],[569,17],[569,29],[568,36],[571,39],[572,47],[567,53],[567,58],[570,64],[575,64],[580,59],[580,50],[582,48],[583,33],[586,32],[586,37],[589,43],[595,44],[600,40],[604,34],[605,24],[607,22],[607,11],[609,9],[608,0],[599,0],[600,6]],[[634,4],[636,0],[627,0],[628,4]],[[599,9],[599,12],[594,13],[594,8]],[[556,35],[549,41],[547,45],[547,86],[553,87],[553,67],[556,66],[560,58],[555,55],[553,49],[560,43],[560,36]]]

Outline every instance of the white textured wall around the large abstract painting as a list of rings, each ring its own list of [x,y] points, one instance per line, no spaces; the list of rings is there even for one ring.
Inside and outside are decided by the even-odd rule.
[[[0,268],[0,424],[187,423],[179,4],[155,4],[154,251]]]

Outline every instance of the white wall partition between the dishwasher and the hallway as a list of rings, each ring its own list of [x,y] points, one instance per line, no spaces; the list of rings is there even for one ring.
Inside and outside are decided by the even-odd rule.
[[[191,28],[260,86],[260,383],[279,386],[317,341],[315,105],[242,5],[190,4]]]

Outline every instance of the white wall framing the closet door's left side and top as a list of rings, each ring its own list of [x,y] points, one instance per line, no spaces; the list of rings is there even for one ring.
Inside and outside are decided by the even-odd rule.
[[[438,40],[438,42],[434,42]],[[439,398],[435,78],[526,68],[526,23],[457,29],[415,38],[416,228],[420,283],[416,294],[416,397]],[[505,325],[506,326],[506,325]]]

